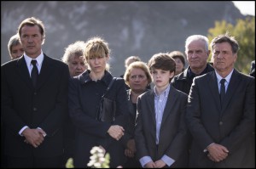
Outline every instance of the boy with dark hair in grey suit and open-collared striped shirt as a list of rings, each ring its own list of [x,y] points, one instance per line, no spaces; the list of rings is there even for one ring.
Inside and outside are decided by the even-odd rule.
[[[184,112],[188,95],[170,85],[175,60],[168,54],[154,54],[148,68],[154,89],[137,99],[138,160],[143,167],[186,167],[188,142]]]

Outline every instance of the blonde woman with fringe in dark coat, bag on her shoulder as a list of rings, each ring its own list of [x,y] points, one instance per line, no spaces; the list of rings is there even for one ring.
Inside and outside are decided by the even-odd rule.
[[[94,146],[109,153],[110,167],[123,166],[125,148],[121,138],[129,113],[125,81],[117,78],[105,96],[116,102],[115,120],[98,121],[100,100],[113,79],[108,71],[108,42],[101,37],[92,37],[85,44],[84,55],[90,70],[73,77],[69,83],[69,113],[77,129],[74,166],[86,167],[90,161],[90,149]]]

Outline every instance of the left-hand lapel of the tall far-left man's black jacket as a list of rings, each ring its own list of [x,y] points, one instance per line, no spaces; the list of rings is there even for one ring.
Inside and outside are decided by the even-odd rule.
[[[30,74],[26,66],[26,60],[24,58],[24,55],[20,57],[20,59],[17,59],[17,73],[19,74],[20,78],[23,79],[23,82],[25,82],[28,87],[33,88],[32,80],[30,78]]]

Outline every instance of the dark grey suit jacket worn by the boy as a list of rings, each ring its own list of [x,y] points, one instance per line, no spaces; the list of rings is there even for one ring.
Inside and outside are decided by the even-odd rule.
[[[160,127],[159,147],[155,144],[156,123],[154,113],[154,91],[143,93],[137,100],[135,142],[137,156],[150,156],[158,161],[163,155],[171,157],[175,163],[171,167],[186,167],[188,162],[188,140],[184,113],[187,94],[170,86],[170,93]]]

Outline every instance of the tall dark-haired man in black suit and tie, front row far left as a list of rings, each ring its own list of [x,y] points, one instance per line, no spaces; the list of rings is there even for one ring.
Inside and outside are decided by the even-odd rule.
[[[41,20],[23,20],[18,33],[25,54],[1,66],[1,114],[8,167],[60,167],[63,120],[68,115],[68,67],[43,53],[45,31]],[[33,67],[38,71],[35,84]]]

